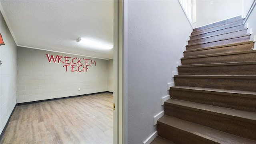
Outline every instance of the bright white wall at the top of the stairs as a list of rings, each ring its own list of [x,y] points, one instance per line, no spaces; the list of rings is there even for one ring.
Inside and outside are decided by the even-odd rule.
[[[242,0],[196,0],[193,28],[242,15]]]

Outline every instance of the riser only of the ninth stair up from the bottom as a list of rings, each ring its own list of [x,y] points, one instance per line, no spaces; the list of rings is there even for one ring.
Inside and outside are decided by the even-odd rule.
[[[190,40],[190,41],[188,41],[188,44],[195,44],[195,43],[198,43],[198,42],[212,42],[212,41],[222,40],[222,39],[225,39],[225,38],[230,38],[230,36],[245,35],[246,33],[247,33],[247,30],[241,30],[241,31],[238,31],[238,32],[232,32],[232,33],[222,34],[222,35],[218,35],[218,36],[212,36],[212,37],[208,37],[208,38]]]

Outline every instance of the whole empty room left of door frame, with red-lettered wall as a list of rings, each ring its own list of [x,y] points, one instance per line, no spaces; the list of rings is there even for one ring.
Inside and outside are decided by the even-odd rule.
[[[0,10],[1,144],[112,144],[113,1],[1,1]]]

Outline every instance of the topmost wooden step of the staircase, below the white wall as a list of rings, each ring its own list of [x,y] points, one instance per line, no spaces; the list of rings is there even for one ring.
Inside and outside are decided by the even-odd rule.
[[[221,26],[221,25],[224,25],[224,24],[229,24],[229,23],[232,23],[232,22],[236,22],[236,21],[240,21],[240,20],[243,20],[243,18],[241,18],[241,16],[236,16],[234,18],[229,18],[227,20],[222,20],[220,22],[214,22],[213,24],[208,24],[206,26],[200,26],[198,28],[194,28],[193,31],[200,31],[200,30],[205,30],[205,29],[208,29],[208,28],[213,28],[213,27],[216,27],[216,26]]]

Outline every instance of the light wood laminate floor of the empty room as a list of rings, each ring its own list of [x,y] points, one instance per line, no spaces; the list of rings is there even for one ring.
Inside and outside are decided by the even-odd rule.
[[[16,106],[1,144],[113,144],[113,94]]]

